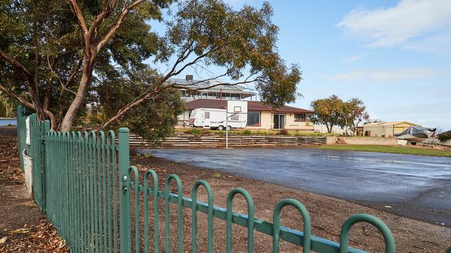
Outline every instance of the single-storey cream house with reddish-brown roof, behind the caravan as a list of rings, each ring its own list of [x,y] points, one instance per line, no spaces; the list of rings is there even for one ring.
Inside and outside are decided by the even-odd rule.
[[[179,116],[179,122],[189,119],[189,113],[198,108],[226,109],[226,100],[196,99],[186,102],[186,115]],[[248,123],[246,129],[296,129],[299,131],[314,131],[313,125],[307,124],[307,117],[314,113],[293,106],[281,106],[273,109],[258,101],[248,101]]]

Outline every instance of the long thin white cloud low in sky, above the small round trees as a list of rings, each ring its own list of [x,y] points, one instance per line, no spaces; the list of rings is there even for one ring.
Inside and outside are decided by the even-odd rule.
[[[332,75],[327,79],[334,82],[391,82],[437,77],[442,74],[442,71],[435,68],[367,69]]]

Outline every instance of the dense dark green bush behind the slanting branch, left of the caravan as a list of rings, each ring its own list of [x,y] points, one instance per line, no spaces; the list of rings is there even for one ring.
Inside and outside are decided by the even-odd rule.
[[[128,75],[127,79],[112,79],[101,85],[99,101],[105,118],[115,115],[144,91],[155,87],[153,71],[135,71]],[[158,145],[162,139],[173,133],[177,115],[183,111],[185,104],[180,100],[180,92],[174,88],[167,88],[158,93],[158,96],[151,97],[136,106],[109,128],[128,127],[133,133]]]

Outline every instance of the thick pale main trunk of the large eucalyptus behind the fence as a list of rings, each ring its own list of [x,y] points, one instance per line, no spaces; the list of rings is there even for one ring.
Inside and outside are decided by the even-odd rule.
[[[92,66],[94,65],[94,57],[89,57],[85,55],[83,59],[83,75],[81,76],[80,86],[78,86],[77,94],[72,101],[69,109],[67,109],[65,118],[61,122],[60,131],[70,131],[72,123],[80,111],[81,106],[85,102],[85,97],[87,95],[87,90],[92,77]]]

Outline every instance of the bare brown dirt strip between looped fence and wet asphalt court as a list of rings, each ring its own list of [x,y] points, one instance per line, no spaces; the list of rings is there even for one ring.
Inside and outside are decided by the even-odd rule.
[[[451,245],[451,229],[440,225],[432,225],[415,221],[409,218],[396,216],[369,207],[357,205],[336,198],[329,198],[318,194],[312,194],[306,191],[298,191],[277,185],[271,185],[266,182],[240,178],[232,174],[223,174],[209,169],[202,169],[190,165],[180,164],[164,160],[161,158],[133,156],[131,164],[139,169],[140,182],[146,169],[154,169],[159,176],[160,189],[164,189],[164,178],[169,174],[177,174],[183,183],[185,196],[191,196],[192,185],[196,180],[205,179],[212,186],[214,192],[214,205],[226,207],[227,194],[235,187],[245,188],[253,197],[255,203],[255,218],[272,222],[273,208],[282,198],[295,198],[303,203],[312,219],[312,235],[327,238],[330,241],[339,242],[341,225],[346,218],[353,214],[371,214],[380,218],[388,225],[393,232],[398,252],[445,252]],[[176,191],[172,187],[173,192]],[[202,189],[202,188],[201,188]],[[199,191],[199,200],[206,202],[206,194],[203,189]],[[160,206],[164,207],[164,206]],[[176,209],[176,205],[171,205],[171,210]],[[187,211],[189,211],[188,209]],[[237,196],[234,201],[234,211],[247,214],[247,205],[244,198]],[[191,239],[190,212],[184,210],[184,250],[191,249],[189,243]],[[176,218],[176,214],[171,211],[171,216]],[[203,216],[203,215],[202,215]],[[151,216],[149,216],[151,217]],[[201,217],[201,214],[199,214]],[[151,218],[150,218],[151,219]],[[161,220],[164,219],[160,216]],[[297,210],[293,207],[284,207],[282,211],[282,225],[302,231],[303,221]],[[199,230],[206,231],[206,219],[199,218]],[[226,242],[226,223],[215,219],[215,249],[218,252],[225,252]],[[160,228],[160,233],[163,232]],[[173,232],[172,232],[173,231]],[[247,230],[234,225],[234,252],[244,252],[244,247],[237,245],[247,244]],[[199,252],[206,250],[206,232],[202,239],[199,238]],[[176,227],[171,226],[171,239],[176,238]],[[171,240],[172,241],[172,240]],[[161,243],[161,242],[160,242]],[[357,223],[352,228],[350,236],[350,245],[368,252],[383,252],[384,243],[382,236],[376,229],[366,223]],[[281,243],[283,252],[299,252],[300,247],[289,243]],[[266,236],[255,232],[255,252],[271,252],[271,236]]]

